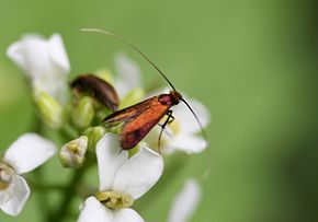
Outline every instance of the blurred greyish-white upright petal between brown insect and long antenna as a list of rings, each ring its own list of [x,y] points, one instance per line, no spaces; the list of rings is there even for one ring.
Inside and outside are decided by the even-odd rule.
[[[115,56],[115,69],[118,74],[115,87],[121,97],[134,87],[140,85],[140,69],[138,65],[123,52]]]

